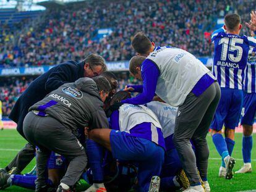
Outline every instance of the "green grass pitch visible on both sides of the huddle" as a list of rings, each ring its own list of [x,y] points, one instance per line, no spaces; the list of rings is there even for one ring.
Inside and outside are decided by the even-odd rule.
[[[255,153],[255,144],[252,149],[252,173],[246,174],[236,174],[232,180],[225,180],[224,178],[218,177],[218,170],[221,165],[220,158],[218,152],[211,141],[210,135],[207,136],[208,145],[210,148],[210,160],[208,167],[208,181],[211,186],[211,191],[221,192],[221,191],[244,191],[244,190],[255,190],[256,189],[256,153]],[[254,135],[254,141],[256,141],[256,135]],[[0,130],[0,167],[6,167],[6,165],[12,160],[12,158],[17,154],[19,149],[23,148],[26,141],[22,138],[22,136],[17,133],[16,130]],[[6,150],[11,149],[11,150]],[[243,162],[242,159],[242,134],[236,133],[236,144],[233,151],[233,157],[236,160],[236,165],[234,170],[240,169]],[[240,159],[240,160],[239,160]],[[35,159],[28,165],[28,167],[23,171],[26,173],[30,171],[35,165]],[[4,191],[32,191],[26,190],[23,188],[19,188],[17,186],[11,186]]]

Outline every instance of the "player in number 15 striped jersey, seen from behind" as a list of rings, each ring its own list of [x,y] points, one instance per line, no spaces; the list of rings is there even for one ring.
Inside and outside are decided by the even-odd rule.
[[[221,99],[211,123],[213,143],[222,157],[219,176],[233,178],[235,160],[231,157],[234,148],[234,130],[239,123],[243,101],[243,81],[249,46],[255,42],[247,36],[239,36],[241,19],[237,14],[224,17],[224,27],[213,32],[215,44],[213,75],[221,86]],[[225,125],[225,139],[221,130]]]

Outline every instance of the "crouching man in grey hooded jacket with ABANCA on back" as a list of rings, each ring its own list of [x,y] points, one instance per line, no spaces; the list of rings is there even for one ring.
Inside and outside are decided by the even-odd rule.
[[[69,161],[58,191],[72,191],[87,165],[77,130],[108,128],[103,102],[110,91],[105,77],[80,78],[75,83],[65,83],[30,107],[23,131],[27,140],[40,148],[36,156],[36,191],[46,190],[46,164],[51,151]]]

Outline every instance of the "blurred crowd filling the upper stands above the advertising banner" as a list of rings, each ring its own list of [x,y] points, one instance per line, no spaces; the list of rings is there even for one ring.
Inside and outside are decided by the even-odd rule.
[[[129,60],[134,55],[130,41],[137,31],[144,31],[156,45],[211,56],[210,34],[216,20],[237,12],[244,23],[255,4],[254,0],[113,0],[46,10],[40,25],[31,25],[19,33],[15,44],[15,32],[5,30],[9,36],[0,40],[0,67],[80,61],[92,52],[106,61]],[[113,33],[98,41],[95,35],[100,28],[111,28]],[[249,31],[244,27],[242,34],[249,35]]]

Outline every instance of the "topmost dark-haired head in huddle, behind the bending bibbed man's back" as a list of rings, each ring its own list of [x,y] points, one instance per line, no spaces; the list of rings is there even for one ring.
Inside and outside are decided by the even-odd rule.
[[[151,41],[143,32],[139,32],[134,35],[132,47],[139,54],[147,54],[151,48]]]

